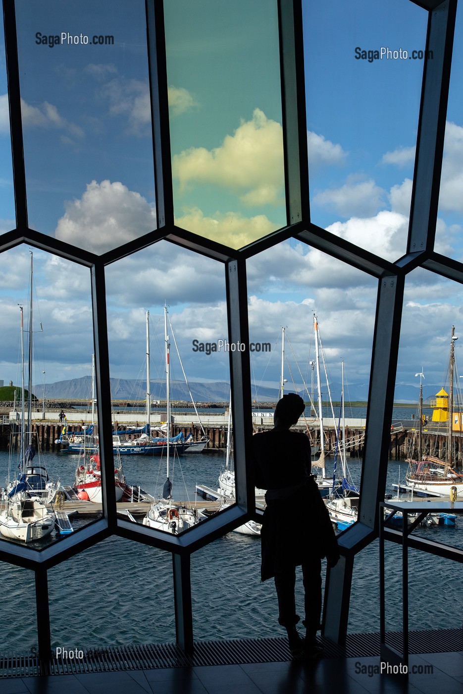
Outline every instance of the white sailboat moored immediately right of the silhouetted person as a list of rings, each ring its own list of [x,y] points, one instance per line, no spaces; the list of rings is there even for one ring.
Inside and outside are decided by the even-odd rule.
[[[341,408],[340,422],[338,422],[338,436],[336,437],[335,463],[333,469],[333,482],[329,500],[326,501],[326,508],[332,523],[338,525],[340,530],[355,523],[358,518],[358,504],[360,496],[355,485],[350,484],[346,477],[346,437],[345,437],[345,417],[344,417],[344,362],[342,362],[342,389],[341,389]],[[336,468],[338,462],[338,452],[341,450],[342,481],[340,482],[340,493],[336,490]]]

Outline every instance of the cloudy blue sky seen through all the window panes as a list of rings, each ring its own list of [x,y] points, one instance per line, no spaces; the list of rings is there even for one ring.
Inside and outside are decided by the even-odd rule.
[[[1,19],[0,19],[1,21]],[[419,51],[427,15],[408,0],[304,3],[307,145],[312,221],[361,248],[405,253],[423,61],[356,58]],[[58,3],[17,9],[24,155],[31,228],[96,253],[156,228],[144,2]],[[436,250],[462,260],[463,17],[458,10]],[[61,35],[114,44],[50,46]],[[40,33],[40,44],[37,44]],[[45,43],[46,41],[46,43]],[[175,221],[234,247],[284,226],[277,17],[271,0],[166,3]],[[15,227],[3,28],[0,39],[0,232]],[[27,302],[29,250],[0,263],[0,380],[17,380],[18,303]],[[34,251],[37,378],[90,373],[89,271]],[[247,263],[256,384],[277,387],[281,327],[285,378],[301,384],[317,314],[326,363],[340,381],[369,379],[376,281],[295,239]],[[222,264],[166,241],[107,267],[111,375],[144,374],[146,310],[152,378],[162,378],[163,306],[190,380],[228,380],[225,353],[193,340],[227,339]],[[405,285],[397,384],[425,397],[444,384],[451,326],[463,330],[460,285],[415,270]],[[458,353],[462,346],[457,342]],[[158,351],[156,355],[156,350]],[[295,357],[293,357],[294,352]],[[175,364],[175,360],[174,360]],[[182,378],[180,365],[173,375]],[[339,393],[335,393],[339,398]]]

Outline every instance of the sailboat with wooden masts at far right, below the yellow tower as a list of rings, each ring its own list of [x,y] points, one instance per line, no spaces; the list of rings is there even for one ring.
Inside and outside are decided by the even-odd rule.
[[[441,460],[432,455],[422,455],[423,452],[423,387],[420,379],[419,388],[419,432],[418,459],[408,459],[408,471],[405,484],[414,493],[426,496],[449,497],[452,487],[455,487],[457,498],[463,498],[463,475],[455,471],[456,461],[453,459],[453,380],[455,374],[455,326],[452,325],[450,343],[450,362],[448,377],[448,428],[446,459]]]

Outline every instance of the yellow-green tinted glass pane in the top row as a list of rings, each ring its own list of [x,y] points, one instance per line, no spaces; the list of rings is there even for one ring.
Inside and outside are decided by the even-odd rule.
[[[176,223],[240,248],[286,225],[277,2],[165,17]]]

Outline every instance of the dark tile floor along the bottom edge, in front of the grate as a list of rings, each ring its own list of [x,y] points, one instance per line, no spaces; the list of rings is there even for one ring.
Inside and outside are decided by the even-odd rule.
[[[410,672],[381,675],[379,657],[251,663],[0,679],[1,694],[462,694],[463,653],[410,656]],[[433,672],[424,672],[425,667]],[[366,668],[366,670],[364,669]],[[370,675],[368,674],[368,669]],[[419,672],[423,670],[423,672]]]

